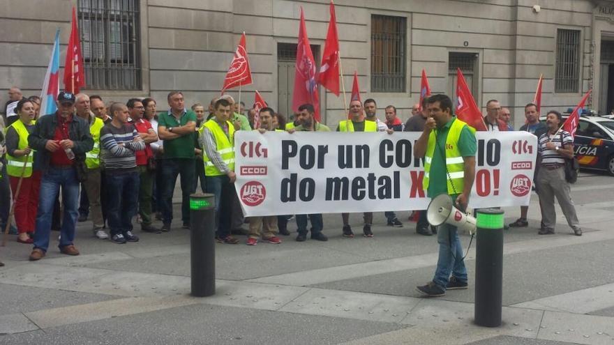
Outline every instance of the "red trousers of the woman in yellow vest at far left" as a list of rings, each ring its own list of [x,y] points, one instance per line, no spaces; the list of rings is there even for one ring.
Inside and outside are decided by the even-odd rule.
[[[33,233],[36,227],[36,210],[38,210],[38,191],[40,190],[40,171],[33,171],[32,176],[22,179],[20,194],[15,199],[19,178],[9,176],[10,189],[13,191],[15,204],[15,223],[20,233]]]

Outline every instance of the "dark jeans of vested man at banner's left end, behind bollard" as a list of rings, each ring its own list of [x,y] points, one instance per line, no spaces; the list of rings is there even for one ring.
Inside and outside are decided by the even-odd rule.
[[[233,198],[237,197],[234,185],[226,175],[207,176],[207,192],[216,197],[216,236],[225,238],[230,235],[233,215]]]

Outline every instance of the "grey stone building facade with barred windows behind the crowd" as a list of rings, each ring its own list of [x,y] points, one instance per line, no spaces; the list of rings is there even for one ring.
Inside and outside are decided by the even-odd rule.
[[[361,98],[401,118],[419,99],[424,68],[435,93],[454,95],[460,67],[481,107],[490,99],[523,106],[544,75],[544,109],[565,111],[592,89],[590,105],[614,109],[614,1],[599,0],[337,0],[340,56],[349,99],[354,70]],[[77,6],[86,57],[85,92],[105,100],[152,96],[165,109],[170,90],[188,105],[219,95],[242,32],[254,90],[291,113],[299,9],[320,63],[329,22],[328,0],[10,0],[0,15],[0,104],[16,85],[40,93],[54,32],[61,50]],[[63,52],[61,56],[63,64]],[[238,97],[238,90],[230,94]],[[343,96],[320,91],[323,120],[343,118]],[[383,110],[380,110],[383,118]]]

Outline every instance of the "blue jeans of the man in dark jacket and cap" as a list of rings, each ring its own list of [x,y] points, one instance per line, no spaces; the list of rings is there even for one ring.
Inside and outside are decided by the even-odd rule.
[[[73,167],[49,167],[40,179],[40,194],[38,196],[38,213],[36,215],[36,230],[34,231],[34,248],[47,252],[51,234],[53,207],[62,187],[62,204],[64,216],[60,229],[58,247],[72,245],[75,239],[75,222],[79,216],[79,182]]]

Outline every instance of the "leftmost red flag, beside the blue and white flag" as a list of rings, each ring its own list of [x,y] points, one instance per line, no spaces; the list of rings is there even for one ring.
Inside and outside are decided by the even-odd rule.
[[[81,54],[81,37],[77,28],[77,10],[73,7],[73,23],[66,47],[66,61],[64,62],[64,90],[71,93],[79,93],[79,89],[85,86],[83,74],[83,56]]]

